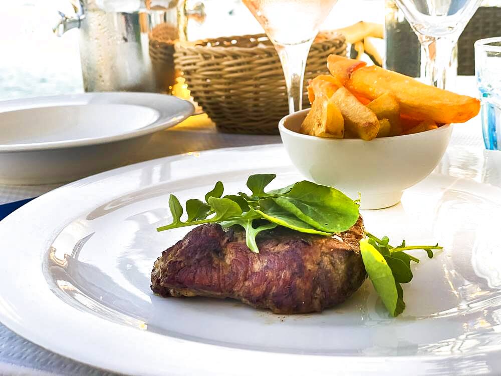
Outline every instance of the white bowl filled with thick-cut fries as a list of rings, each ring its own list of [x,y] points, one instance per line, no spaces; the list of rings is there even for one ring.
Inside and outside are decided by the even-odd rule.
[[[452,123],[480,110],[475,98],[331,55],[330,75],[309,82],[312,108],[283,118],[279,131],[298,170],[357,199],[361,209],[400,201],[442,158]]]

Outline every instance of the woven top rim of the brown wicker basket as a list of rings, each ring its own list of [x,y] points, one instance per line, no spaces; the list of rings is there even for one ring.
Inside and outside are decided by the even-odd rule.
[[[346,38],[344,35],[339,34],[339,33],[334,33],[334,32],[327,32],[330,33],[330,38],[328,40],[320,41],[320,42],[314,42],[312,44],[312,48],[319,48],[321,46],[332,46],[336,42],[339,44],[339,47],[343,47]],[[185,50],[185,51],[204,51],[204,52],[214,52],[214,53],[222,53],[222,52],[228,52],[228,51],[234,51],[234,52],[248,52],[250,50],[256,50],[256,46],[249,46],[249,47],[241,47],[238,46],[238,44],[234,45],[229,45],[229,46],[206,46],[208,43],[211,43],[212,41],[214,42],[219,42],[223,40],[243,40],[243,39],[260,39],[260,38],[266,38],[268,41],[270,39],[266,34],[245,34],[245,35],[237,35],[237,36],[228,36],[228,37],[218,37],[218,38],[207,38],[207,39],[199,39],[197,41],[192,41],[192,42],[181,42],[178,41],[175,43],[175,48],[176,50]],[[273,45],[263,45],[262,47],[259,48],[261,51],[267,51],[267,50],[275,50],[275,47]]]

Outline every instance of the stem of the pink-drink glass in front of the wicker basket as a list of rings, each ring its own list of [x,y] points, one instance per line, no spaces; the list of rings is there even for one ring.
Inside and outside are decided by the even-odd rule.
[[[284,70],[290,114],[303,108],[303,81],[312,43],[313,39],[297,45],[275,44]]]

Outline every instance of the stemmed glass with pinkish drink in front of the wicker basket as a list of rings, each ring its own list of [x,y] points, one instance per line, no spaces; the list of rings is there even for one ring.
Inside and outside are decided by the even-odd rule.
[[[243,0],[265,29],[280,57],[289,112],[303,106],[306,60],[320,25],[337,0]]]

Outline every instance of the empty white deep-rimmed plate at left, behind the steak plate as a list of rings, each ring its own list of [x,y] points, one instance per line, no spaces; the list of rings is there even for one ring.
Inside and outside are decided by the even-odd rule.
[[[126,164],[150,136],[193,113],[152,93],[86,93],[0,102],[0,182],[51,184]]]

